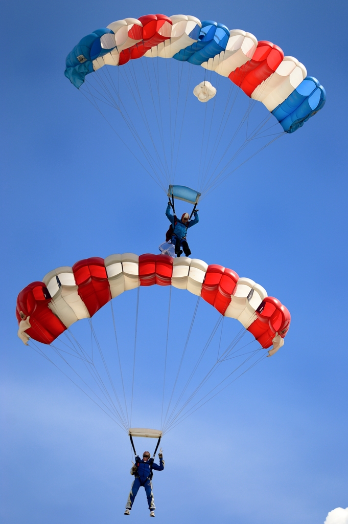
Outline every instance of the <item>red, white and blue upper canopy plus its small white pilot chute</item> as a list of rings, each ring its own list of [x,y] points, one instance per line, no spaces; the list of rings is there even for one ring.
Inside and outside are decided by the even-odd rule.
[[[104,65],[141,57],[174,58],[228,77],[251,99],[262,102],[293,133],[324,105],[326,94],[303,64],[278,46],[241,29],[186,15],[146,15],[117,20],[84,37],[66,58],[65,76],[80,88],[87,74]],[[214,95],[208,82],[195,88],[201,102]],[[196,90],[198,92],[196,92]],[[216,92],[216,90],[215,90]]]

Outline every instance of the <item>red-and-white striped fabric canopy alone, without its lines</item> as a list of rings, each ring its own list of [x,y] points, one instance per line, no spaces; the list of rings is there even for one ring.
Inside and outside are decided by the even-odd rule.
[[[249,278],[197,258],[124,253],[80,260],[50,271],[17,298],[18,336],[50,344],[77,320],[92,317],[104,304],[139,286],[173,286],[203,298],[221,315],[237,319],[270,355],[284,343],[290,313]]]

